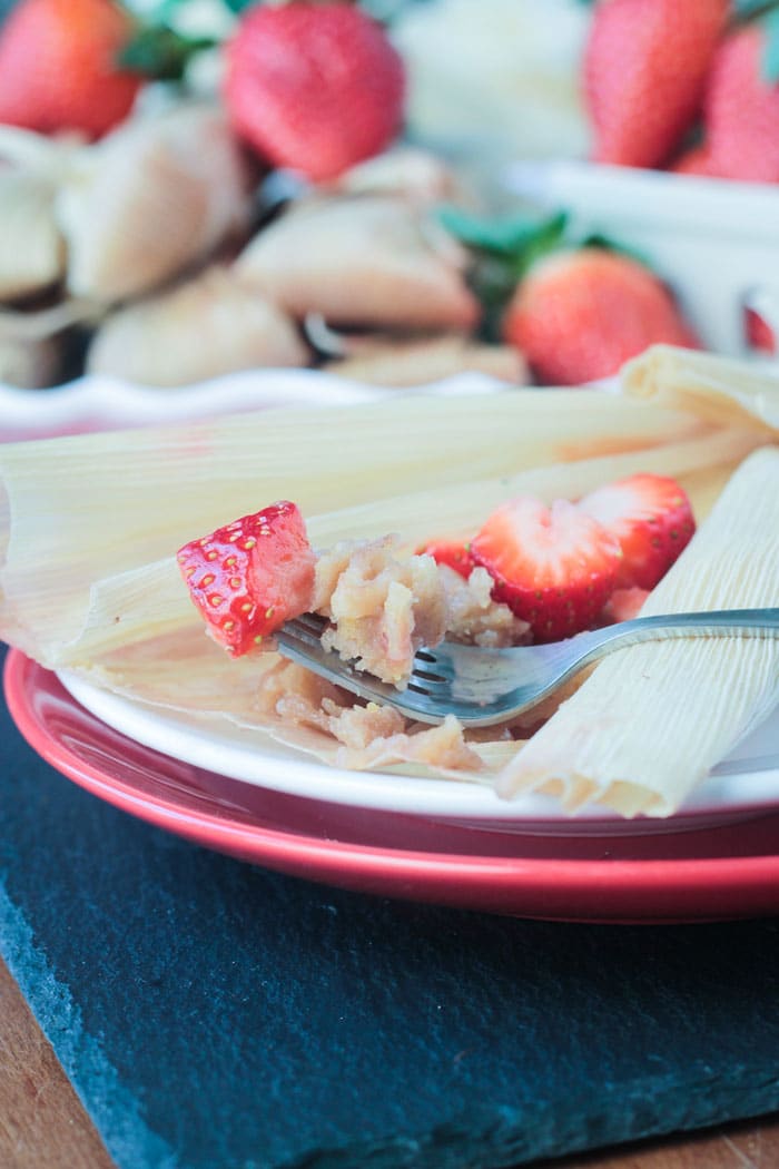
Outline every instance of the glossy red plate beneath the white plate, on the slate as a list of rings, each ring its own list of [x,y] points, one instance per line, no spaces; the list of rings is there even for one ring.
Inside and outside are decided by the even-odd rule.
[[[243,860],[364,893],[578,921],[721,920],[779,912],[779,814],[695,817],[666,831],[582,836],[443,824],[257,788],[127,739],[16,650],[12,717],[93,795]]]

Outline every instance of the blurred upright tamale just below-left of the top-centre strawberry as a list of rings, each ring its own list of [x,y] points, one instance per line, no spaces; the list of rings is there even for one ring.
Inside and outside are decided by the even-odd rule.
[[[68,290],[114,303],[151,291],[246,227],[249,182],[227,119],[183,105],[75,155],[56,214]]]

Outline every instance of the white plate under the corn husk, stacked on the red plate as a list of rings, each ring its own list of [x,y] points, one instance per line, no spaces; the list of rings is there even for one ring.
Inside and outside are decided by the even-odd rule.
[[[732,819],[733,815],[779,807],[779,710],[758,727],[698,784],[684,807],[667,819],[641,817],[625,821],[603,808],[584,809],[573,819],[556,801],[527,795],[499,800],[492,788],[479,783],[392,775],[382,772],[349,772],[328,767],[312,756],[274,742],[259,731],[235,727],[222,719],[195,720],[186,714],[111,694],[74,677],[58,675],[65,689],[103,722],[162,754],[257,787],[292,795],[347,804],[375,811],[405,812],[433,819],[479,825],[493,824],[501,831],[527,832],[529,822],[540,831],[603,832],[611,823],[614,832],[679,831],[693,823]]]

